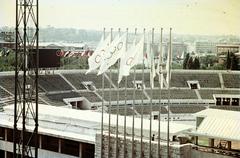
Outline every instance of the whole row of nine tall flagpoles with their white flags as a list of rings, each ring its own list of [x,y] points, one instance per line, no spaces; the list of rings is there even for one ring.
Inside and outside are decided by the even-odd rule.
[[[168,51],[168,58],[167,58],[167,88],[168,88],[168,123],[167,123],[167,155],[169,157],[169,109],[170,109],[170,77],[171,77],[171,62],[172,62],[172,38],[171,38],[171,31],[170,28],[170,42],[169,42],[169,51]],[[161,115],[161,89],[163,87],[163,52],[162,52],[162,43],[163,43],[163,29],[161,28],[161,34],[160,34],[160,42],[159,42],[159,58],[158,58],[158,67],[157,67],[157,74],[159,75],[159,113],[158,113],[158,157],[160,157],[160,115]],[[102,74],[102,117],[101,117],[101,157],[103,156],[103,130],[104,130],[104,124],[103,124],[103,114],[104,114],[104,89],[105,89],[105,72],[109,69],[109,76],[110,80],[112,80],[112,71],[111,66],[114,65],[116,62],[118,63],[118,75],[119,80],[117,83],[117,117],[116,117],[116,155],[115,157],[118,157],[119,149],[118,149],[118,136],[119,136],[119,83],[123,76],[125,76],[125,104],[124,104],[124,141],[123,141],[123,148],[124,153],[123,156],[126,157],[126,112],[127,112],[127,76],[130,75],[130,69],[134,68],[134,85],[136,83],[136,66],[137,64],[142,64],[142,97],[141,97],[141,133],[140,133],[140,149],[141,149],[141,157],[144,157],[143,155],[143,110],[144,110],[144,67],[145,67],[145,61],[146,59],[144,56],[148,57],[148,66],[150,66],[150,127],[149,127],[149,158],[152,157],[151,151],[152,151],[152,98],[153,98],[153,87],[154,87],[154,77],[155,77],[155,61],[154,61],[154,54],[153,54],[153,45],[154,45],[154,28],[152,29],[152,39],[151,43],[148,43],[147,45],[147,52],[144,50],[145,46],[145,29],[143,30],[143,35],[140,39],[140,41],[136,44],[136,37],[137,37],[137,29],[135,29],[134,34],[134,42],[133,45],[128,48],[128,29],[126,29],[126,32],[121,35],[120,29],[118,30],[118,35],[115,39],[113,39],[113,29],[111,29],[110,35],[106,37],[106,29],[104,28],[103,31],[103,37],[100,41],[100,44],[96,48],[93,55],[88,59],[89,62],[89,70],[87,73],[99,69],[98,75]],[[149,36],[148,36],[149,38]],[[149,39],[148,39],[149,42]],[[129,51],[130,50],[130,51]],[[132,53],[132,54],[131,54]],[[137,54],[138,53],[138,54]],[[140,54],[140,55],[139,55]],[[112,60],[113,58],[113,60]],[[142,60],[142,63],[139,62]],[[123,63],[126,63],[125,65]],[[129,63],[129,64],[127,64]],[[150,64],[150,65],[149,65]],[[126,71],[121,71],[121,66]],[[121,74],[122,73],[122,74]],[[122,76],[120,76],[120,74]],[[110,156],[110,134],[111,134],[111,93],[112,93],[112,85],[110,83],[110,91],[109,91],[109,106],[108,106],[108,112],[109,112],[109,124],[108,124],[108,157]],[[134,153],[134,138],[135,138],[135,131],[134,131],[134,125],[135,125],[135,93],[136,87],[134,86],[133,90],[133,114],[132,114],[132,157],[135,157]]]

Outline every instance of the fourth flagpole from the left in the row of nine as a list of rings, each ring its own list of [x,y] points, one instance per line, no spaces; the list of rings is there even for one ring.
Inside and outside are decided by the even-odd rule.
[[[127,50],[127,42],[128,42],[128,28],[127,31],[127,38],[126,38],[126,48]],[[126,157],[126,115],[127,115],[127,76],[125,76],[125,93],[124,93],[124,139],[123,139],[123,157]]]

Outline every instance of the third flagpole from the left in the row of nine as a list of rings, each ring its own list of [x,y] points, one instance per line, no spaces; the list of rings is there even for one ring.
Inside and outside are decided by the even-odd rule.
[[[118,34],[120,36],[121,29],[118,28]],[[120,60],[118,60],[118,76],[119,76],[119,66]],[[116,120],[116,155],[115,157],[118,158],[118,118],[119,118],[119,82],[117,83],[117,120]]]

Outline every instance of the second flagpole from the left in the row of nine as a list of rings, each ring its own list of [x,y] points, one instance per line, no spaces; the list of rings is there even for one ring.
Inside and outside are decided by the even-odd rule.
[[[112,35],[112,31],[113,31],[113,28],[111,28],[111,42],[113,40],[113,35]],[[110,78],[110,81],[112,80],[112,69],[111,67],[109,68],[109,78]],[[111,111],[112,111],[112,96],[111,96],[111,92],[112,91],[112,85],[111,83],[109,82],[109,105],[108,105],[108,157],[110,157],[110,146],[111,146],[111,139],[110,139],[110,133],[111,133]]]

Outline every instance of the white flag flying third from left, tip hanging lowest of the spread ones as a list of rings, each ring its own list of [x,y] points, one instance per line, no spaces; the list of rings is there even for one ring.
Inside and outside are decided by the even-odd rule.
[[[136,40],[133,42],[133,46],[126,51],[122,57],[119,67],[119,76],[118,76],[118,83],[121,82],[123,76],[128,76],[130,73],[130,69],[142,63],[143,60],[143,50],[144,50],[144,36],[135,44]]]

